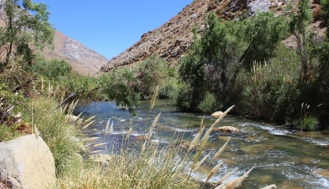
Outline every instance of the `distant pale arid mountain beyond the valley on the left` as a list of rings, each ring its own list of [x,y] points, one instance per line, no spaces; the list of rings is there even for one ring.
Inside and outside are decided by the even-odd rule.
[[[0,11],[2,11],[4,4],[5,0],[0,0]],[[4,25],[5,23],[0,19],[0,26]],[[75,71],[85,75],[97,73],[108,62],[108,59],[103,55],[59,31],[55,33],[54,50],[45,48],[42,54],[47,58],[64,59]]]

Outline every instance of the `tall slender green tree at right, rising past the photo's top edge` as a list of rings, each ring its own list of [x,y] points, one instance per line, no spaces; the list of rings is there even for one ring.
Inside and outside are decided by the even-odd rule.
[[[299,0],[298,11],[291,15],[290,31],[296,38],[298,47],[297,53],[301,57],[302,70],[300,80],[308,82],[312,79],[313,68],[310,61],[310,32],[307,26],[312,22],[312,12],[309,9],[309,0]]]

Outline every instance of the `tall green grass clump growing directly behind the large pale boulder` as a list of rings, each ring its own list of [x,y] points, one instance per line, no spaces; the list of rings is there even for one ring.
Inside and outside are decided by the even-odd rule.
[[[61,109],[52,111],[57,105],[58,102],[52,98],[33,99],[28,108],[28,121],[33,121],[49,146],[54,156],[57,175],[60,175],[69,169],[72,160],[79,160],[84,146],[78,139],[81,132],[74,125],[66,123]]]

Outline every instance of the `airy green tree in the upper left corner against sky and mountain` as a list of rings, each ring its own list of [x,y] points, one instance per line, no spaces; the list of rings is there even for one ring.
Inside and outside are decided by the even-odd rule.
[[[21,64],[32,64],[34,53],[31,45],[42,50],[53,44],[54,29],[49,22],[49,11],[43,3],[31,0],[6,0],[1,7],[0,19],[5,26],[0,27],[0,69],[3,71],[11,60],[22,58]]]

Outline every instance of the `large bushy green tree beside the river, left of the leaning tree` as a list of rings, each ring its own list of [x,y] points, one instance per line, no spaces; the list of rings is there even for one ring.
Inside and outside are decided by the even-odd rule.
[[[220,22],[211,13],[205,24],[205,33],[200,39],[195,36],[193,49],[182,59],[179,68],[180,77],[191,87],[191,90],[182,89],[179,96],[184,103],[177,106],[185,110],[200,110],[197,107],[207,94],[214,94],[219,100],[224,98],[229,81],[228,65],[234,64],[239,54],[239,41],[233,35],[234,22]],[[190,102],[189,97],[193,99]]]

